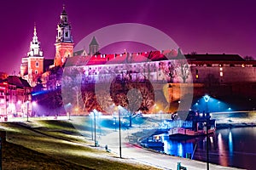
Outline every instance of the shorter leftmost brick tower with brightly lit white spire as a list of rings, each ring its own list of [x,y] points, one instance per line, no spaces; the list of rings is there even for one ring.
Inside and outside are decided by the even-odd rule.
[[[44,56],[40,47],[40,42],[38,42],[37,28],[34,26],[34,33],[32,42],[30,42],[29,52],[27,53],[26,58],[22,58],[22,63],[20,65],[20,77],[26,78],[33,87],[43,71]]]

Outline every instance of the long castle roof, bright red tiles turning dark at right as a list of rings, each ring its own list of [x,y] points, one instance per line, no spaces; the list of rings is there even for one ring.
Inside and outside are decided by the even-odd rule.
[[[81,51],[75,52],[81,54]],[[151,51],[143,53],[124,54],[96,54],[88,56],[74,56],[68,58],[67,65],[108,65],[142,63],[147,61],[160,61],[167,59],[183,59],[185,56],[190,62],[193,61],[244,61],[238,54],[185,54],[181,55],[179,49]]]

